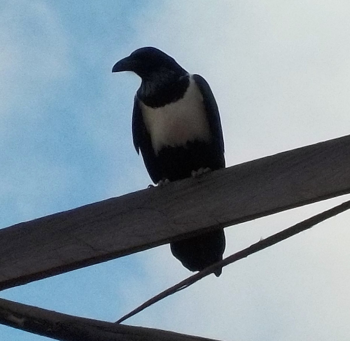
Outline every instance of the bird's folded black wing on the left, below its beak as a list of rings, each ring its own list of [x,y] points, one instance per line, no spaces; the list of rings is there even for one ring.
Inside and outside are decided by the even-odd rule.
[[[137,96],[135,96],[134,99],[132,113],[132,136],[134,147],[138,154],[139,151],[141,151],[149,176],[154,183],[158,183],[161,179],[160,168],[152,147],[151,136],[149,135],[144,119],[142,118],[142,111]]]

